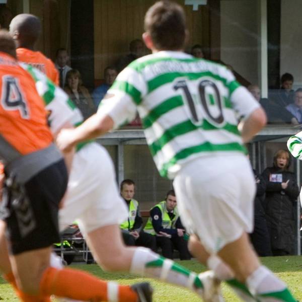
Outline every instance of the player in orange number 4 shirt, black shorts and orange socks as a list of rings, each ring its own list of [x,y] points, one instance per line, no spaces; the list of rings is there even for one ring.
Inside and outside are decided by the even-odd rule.
[[[51,294],[87,301],[140,301],[139,284],[119,286],[82,271],[49,266],[51,246],[60,241],[58,205],[67,170],[52,142],[35,82],[18,64],[15,43],[6,31],[0,31],[0,96],[0,158],[6,176],[0,244],[7,228],[14,273],[6,278],[16,288],[18,284],[24,302],[41,302]],[[5,252],[1,247],[0,259]],[[1,269],[6,265],[1,262]]]

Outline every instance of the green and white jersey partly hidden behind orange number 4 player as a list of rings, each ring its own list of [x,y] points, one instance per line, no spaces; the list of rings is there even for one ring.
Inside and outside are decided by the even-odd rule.
[[[20,65],[31,74],[38,94],[45,102],[46,109],[49,111],[48,121],[52,133],[56,133],[67,122],[73,126],[78,126],[83,122],[81,111],[60,87],[52,83],[37,68],[25,63],[20,63]]]

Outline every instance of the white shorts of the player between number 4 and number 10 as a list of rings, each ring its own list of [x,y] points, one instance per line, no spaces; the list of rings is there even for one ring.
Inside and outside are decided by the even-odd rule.
[[[86,235],[102,226],[120,224],[127,216],[107,150],[96,142],[85,145],[73,157],[64,207],[59,211],[60,231],[77,220]]]

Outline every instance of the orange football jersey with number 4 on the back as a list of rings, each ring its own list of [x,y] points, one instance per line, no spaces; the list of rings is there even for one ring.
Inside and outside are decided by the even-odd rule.
[[[17,60],[3,52],[0,95],[0,134],[23,155],[49,146],[53,137],[35,82]]]

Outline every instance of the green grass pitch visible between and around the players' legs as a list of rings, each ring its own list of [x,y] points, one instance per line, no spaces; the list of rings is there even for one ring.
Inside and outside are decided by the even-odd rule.
[[[302,257],[266,257],[261,259],[264,265],[275,272],[282,280],[284,280],[291,289],[294,296],[302,301]],[[197,263],[195,260],[180,261],[182,265],[196,272],[204,270],[204,266]],[[148,280],[155,288],[155,302],[197,302],[200,298],[184,288],[165,284],[153,279],[142,279],[126,273],[106,273],[103,272],[97,265],[72,265],[73,268],[86,270],[100,278],[115,280],[121,284],[132,284],[142,280]],[[225,284],[222,285],[223,296],[226,301],[236,302],[239,299],[233,291]],[[0,301],[10,302],[18,301],[11,286],[0,277]]]

